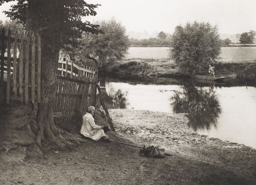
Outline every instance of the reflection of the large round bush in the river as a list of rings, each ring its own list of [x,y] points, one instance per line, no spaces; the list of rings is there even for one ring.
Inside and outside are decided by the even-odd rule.
[[[171,97],[171,105],[175,113],[189,113],[189,126],[198,129],[217,127],[221,107],[214,86],[195,87],[193,83],[180,86]]]

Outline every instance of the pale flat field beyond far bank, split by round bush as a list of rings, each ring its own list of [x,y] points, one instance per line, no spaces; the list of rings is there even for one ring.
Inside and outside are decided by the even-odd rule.
[[[127,59],[131,58],[169,58],[167,47],[131,47]],[[220,62],[256,62],[256,47],[223,47]]]

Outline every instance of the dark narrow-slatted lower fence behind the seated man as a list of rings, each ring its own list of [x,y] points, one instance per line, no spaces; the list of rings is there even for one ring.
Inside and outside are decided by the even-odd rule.
[[[75,76],[73,78],[58,75],[54,112],[66,111],[66,120],[74,112],[85,114],[88,106],[96,104],[96,78]]]

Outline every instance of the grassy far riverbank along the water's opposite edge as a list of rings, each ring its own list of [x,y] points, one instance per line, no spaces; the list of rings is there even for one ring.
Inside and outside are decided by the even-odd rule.
[[[256,62],[233,63],[219,62],[215,64],[216,75],[226,76],[223,81],[227,84],[240,84],[256,82]],[[203,75],[208,75],[205,68]],[[118,78],[120,80],[136,80],[150,78],[177,78],[188,79],[190,75],[180,71],[177,64],[171,59],[140,59],[133,58],[117,62],[110,62],[99,68],[99,77]]]

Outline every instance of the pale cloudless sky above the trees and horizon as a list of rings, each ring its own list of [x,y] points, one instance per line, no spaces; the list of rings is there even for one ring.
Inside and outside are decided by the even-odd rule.
[[[87,20],[114,17],[127,31],[172,33],[177,25],[188,21],[204,21],[217,25],[221,34],[236,34],[256,30],[256,0],[86,0],[101,4],[95,17]],[[0,6],[0,18],[5,20]]]

